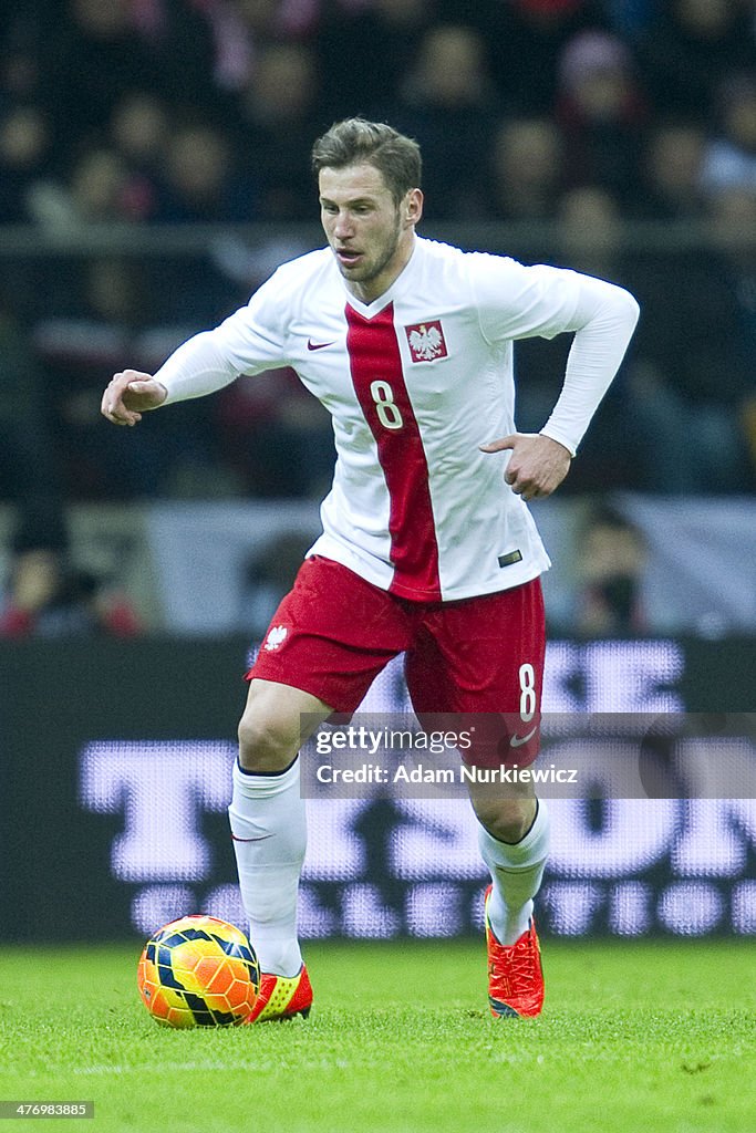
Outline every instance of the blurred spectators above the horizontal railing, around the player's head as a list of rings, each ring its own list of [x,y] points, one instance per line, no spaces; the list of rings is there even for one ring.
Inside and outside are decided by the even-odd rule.
[[[2,0],[0,222],[312,216],[337,118],[424,146],[430,220],[705,216],[755,191],[753,0]]]

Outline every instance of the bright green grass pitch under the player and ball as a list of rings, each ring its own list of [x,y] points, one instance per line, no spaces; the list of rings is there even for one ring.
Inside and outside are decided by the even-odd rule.
[[[85,1133],[756,1130],[750,942],[550,942],[544,1014],[501,1022],[482,944],[313,944],[308,1021],[194,1031],[138,952],[0,949],[0,1099],[94,1101],[44,1122]]]

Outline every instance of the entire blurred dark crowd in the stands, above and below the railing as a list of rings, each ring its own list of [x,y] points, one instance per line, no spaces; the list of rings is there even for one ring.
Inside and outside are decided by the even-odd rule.
[[[136,431],[97,416],[112,370],[154,369],[300,248],[71,258],[65,240],[316,222],[312,140],[355,113],[421,142],[426,231],[547,222],[537,258],[640,300],[566,491],[753,491],[756,0],[0,0],[0,225],[63,238],[6,257],[0,282],[20,546],[73,500],[324,491],[330,423],[288,372]],[[626,238],[644,221],[697,236],[644,250]],[[545,419],[563,351],[521,344],[520,428]]]

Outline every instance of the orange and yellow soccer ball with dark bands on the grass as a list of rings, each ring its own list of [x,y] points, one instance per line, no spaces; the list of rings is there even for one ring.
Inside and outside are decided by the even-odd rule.
[[[139,956],[142,1002],[163,1026],[233,1026],[252,1012],[260,964],[244,932],[215,917],[180,917]]]

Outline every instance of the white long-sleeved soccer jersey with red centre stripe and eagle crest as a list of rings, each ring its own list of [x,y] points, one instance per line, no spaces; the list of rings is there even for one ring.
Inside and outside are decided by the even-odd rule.
[[[513,340],[585,326],[585,281],[417,238],[401,274],[365,305],[324,248],[281,266],[246,307],[185,343],[155,377],[175,401],[241,374],[294,367],[330,411],[338,454],[323,534],[309,554],[404,598],[491,594],[550,562],[527,505],[504,483],[509,453],[478,446],[515,432]],[[611,332],[598,327],[593,351],[574,365],[561,416],[544,428],[572,451],[631,330],[618,343],[615,323]]]

